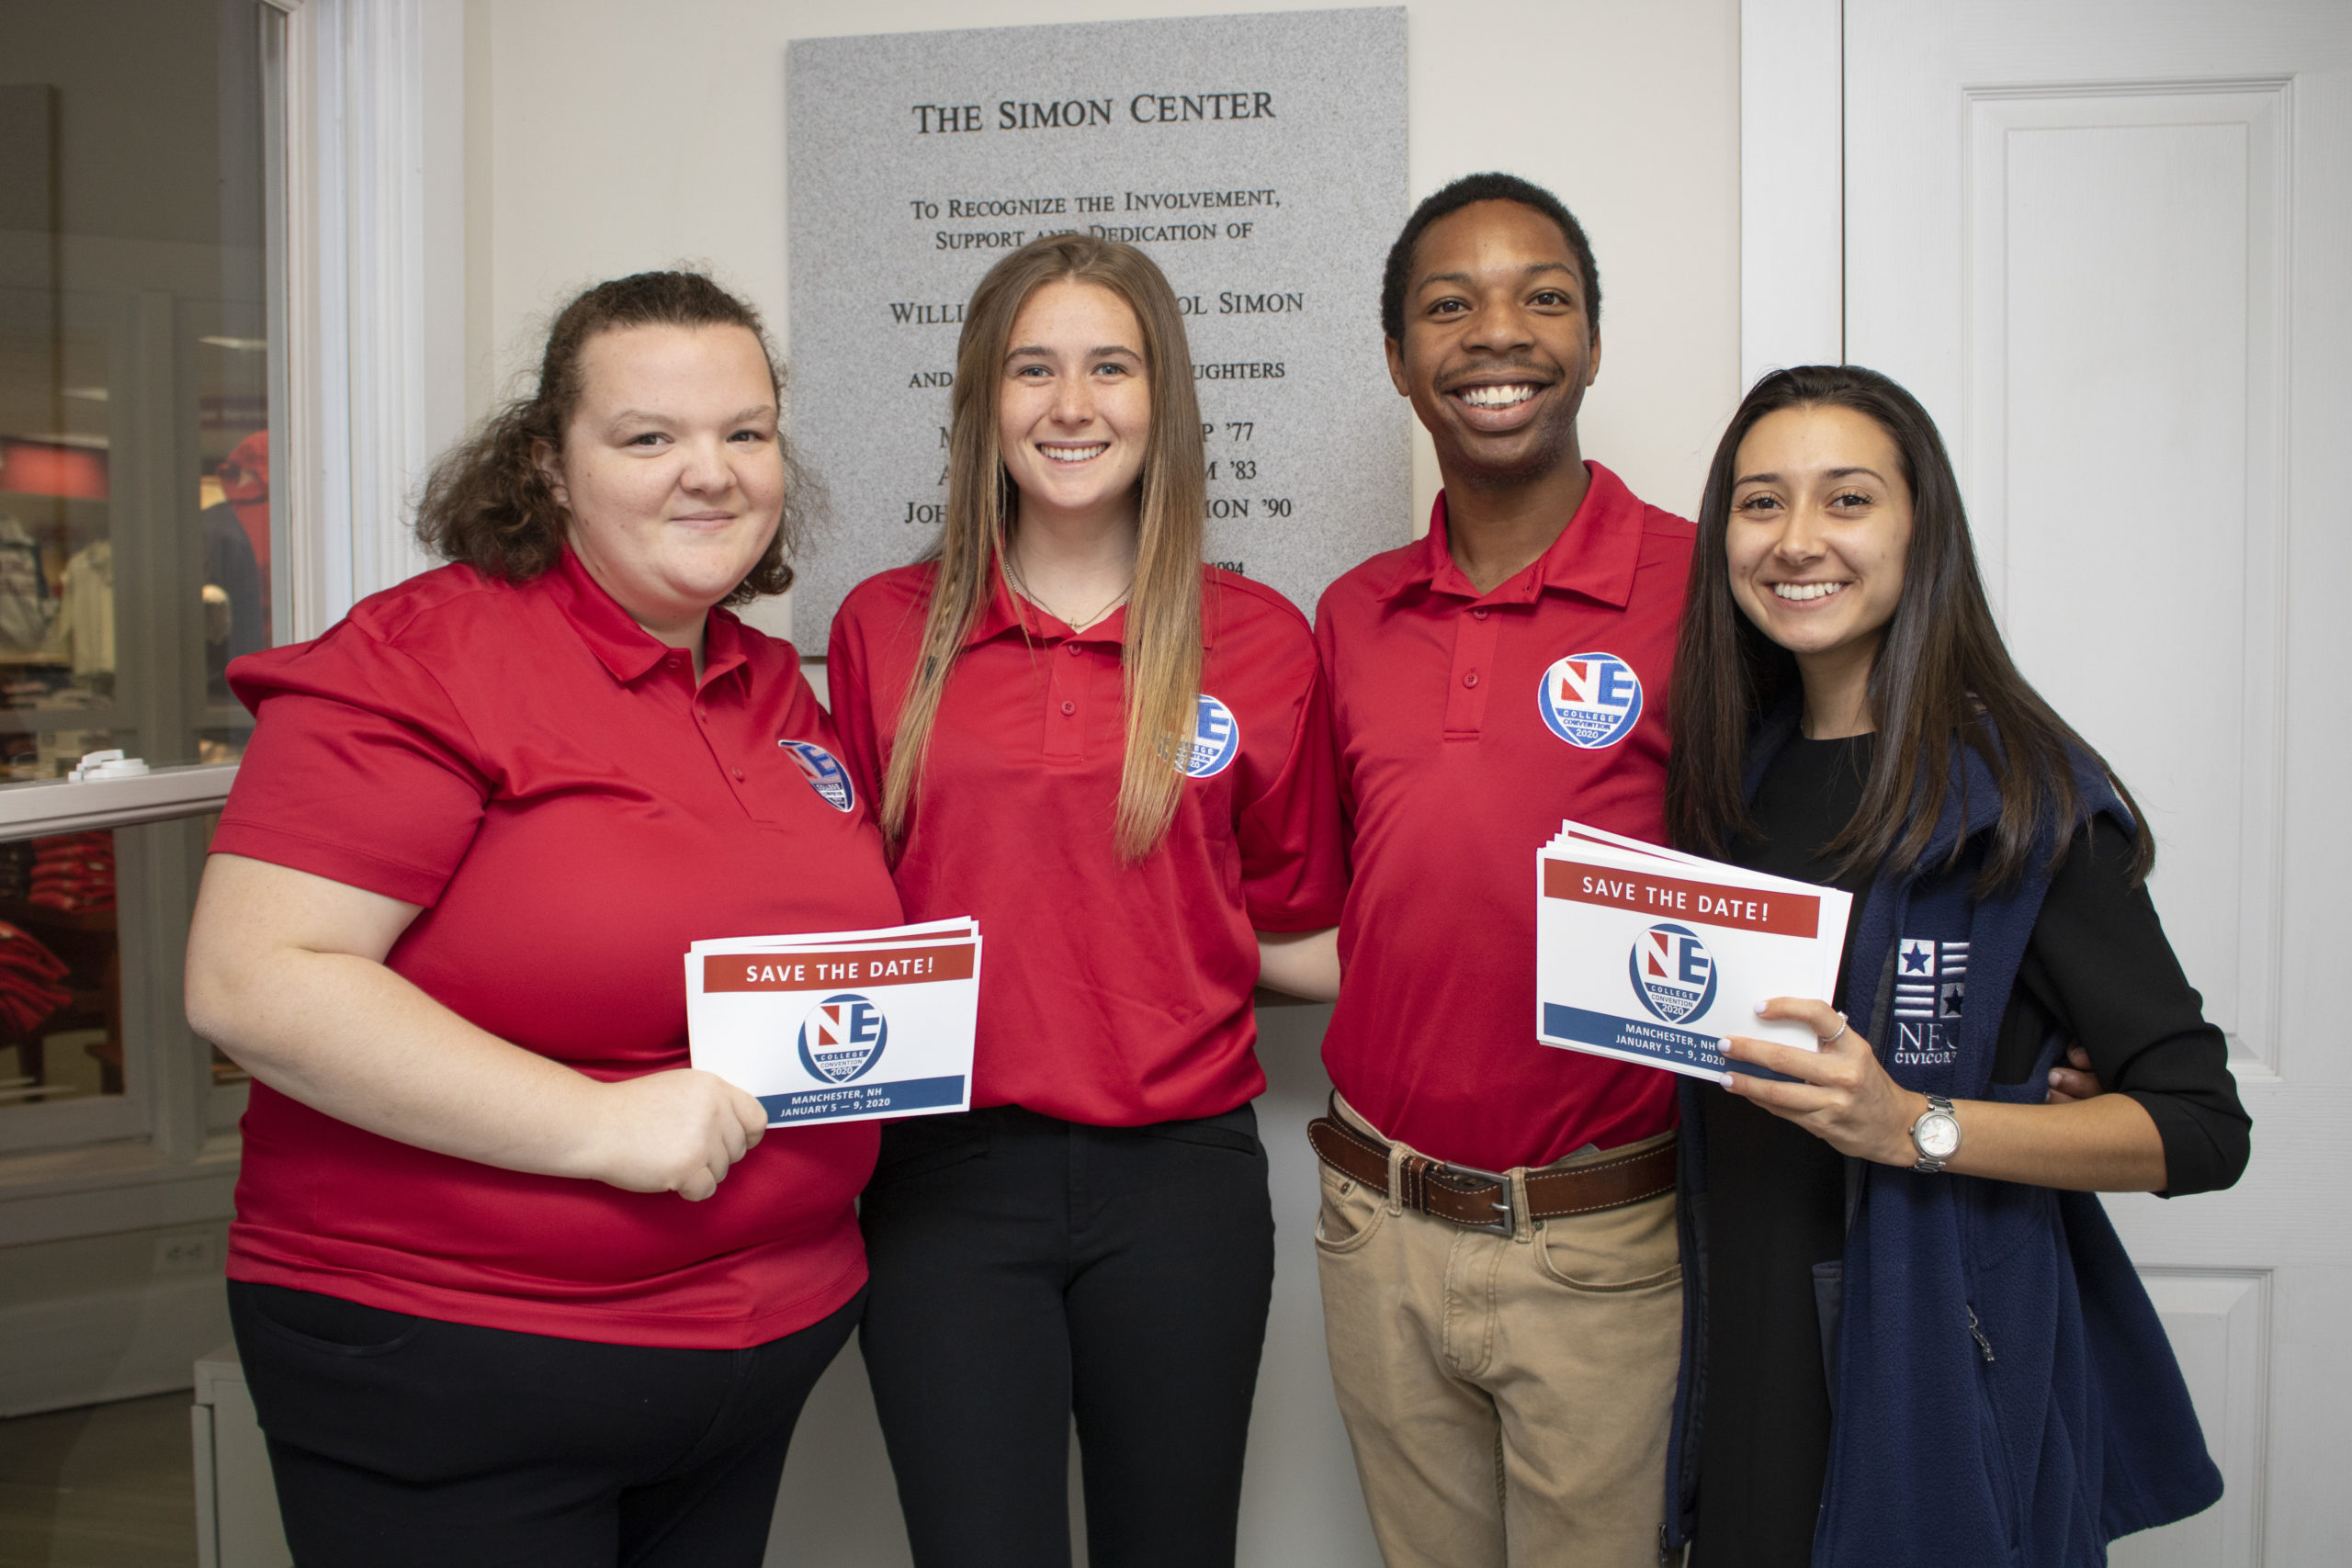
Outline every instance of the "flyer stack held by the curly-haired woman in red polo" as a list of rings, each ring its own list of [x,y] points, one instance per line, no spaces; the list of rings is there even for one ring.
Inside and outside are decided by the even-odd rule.
[[[981,926],[736,936],[687,950],[694,1065],[769,1126],[971,1110]]]

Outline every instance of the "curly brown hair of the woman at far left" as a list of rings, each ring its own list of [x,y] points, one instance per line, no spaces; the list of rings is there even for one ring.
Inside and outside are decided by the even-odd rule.
[[[569,512],[548,487],[536,451],[541,442],[562,451],[581,400],[581,350],[600,331],[621,327],[748,329],[760,339],[776,409],[783,411],[783,360],[748,303],[703,273],[635,273],[600,282],[555,313],[532,395],[485,418],[433,465],[416,505],[416,538],[426,550],[503,583],[529,583],[562,559]],[[760,562],[720,604],[743,604],[793,585],[790,555],[800,543],[809,482],[781,430],[776,447],[783,454],[783,520]]]

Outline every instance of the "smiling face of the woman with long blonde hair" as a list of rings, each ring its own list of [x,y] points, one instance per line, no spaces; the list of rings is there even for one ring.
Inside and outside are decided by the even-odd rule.
[[[1094,282],[1049,282],[1021,306],[997,383],[997,449],[1021,512],[1136,522],[1152,388],[1143,327]]]

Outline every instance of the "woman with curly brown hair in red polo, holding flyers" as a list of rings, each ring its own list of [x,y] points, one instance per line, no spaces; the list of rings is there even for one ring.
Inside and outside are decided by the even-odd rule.
[[[762,1556],[875,1133],[689,1070],[680,954],[898,922],[720,609],[793,581],[776,407],[708,277],[600,284],[435,473],[452,564],[230,670],[188,1018],[256,1079],[228,1293],[303,1563]]]

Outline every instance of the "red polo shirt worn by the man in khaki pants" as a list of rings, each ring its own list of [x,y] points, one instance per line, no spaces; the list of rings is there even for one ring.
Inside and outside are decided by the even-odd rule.
[[[1665,842],[1665,684],[1689,522],[1588,463],[1552,548],[1482,595],[1418,543],[1331,583],[1331,691],[1355,886],[1324,1065],[1390,1138],[1482,1171],[1675,1124],[1675,1079],[1536,1041],[1536,851],[1559,820]]]

